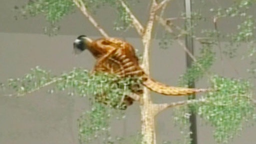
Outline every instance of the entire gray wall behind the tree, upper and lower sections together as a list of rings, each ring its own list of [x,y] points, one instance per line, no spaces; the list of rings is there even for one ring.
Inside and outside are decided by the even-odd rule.
[[[72,42],[79,34],[98,35],[98,32],[77,10],[75,14],[68,15],[61,20],[60,34],[54,37],[43,35],[42,27],[46,24],[42,15],[22,19],[12,9],[15,5],[22,5],[27,0],[0,0],[0,82],[10,77],[20,77],[36,65],[44,69],[50,69],[54,74],[69,71],[72,67],[84,67],[91,69],[94,59],[88,51],[74,57],[72,53]],[[138,19],[145,23],[148,0],[132,5]],[[205,7],[211,6],[216,0],[210,0]],[[217,0],[219,5],[225,6],[230,0]],[[142,9],[142,10],[141,10]],[[172,0],[170,6],[165,10],[170,16],[176,16],[183,9],[180,0]],[[196,7],[194,7],[196,9]],[[208,13],[208,11],[203,11]],[[251,11],[255,15],[255,10]],[[106,17],[101,13],[108,13]],[[141,52],[141,42],[134,38],[137,36],[135,30],[116,32],[112,30],[115,11],[102,8],[96,15],[106,31],[111,36],[126,37]],[[169,15],[166,15],[169,16]],[[230,24],[231,23],[231,24]],[[220,21],[222,31],[230,31],[235,27],[235,22]],[[213,26],[212,23],[202,22],[201,27]],[[200,28],[201,28],[200,27]],[[155,37],[161,36],[161,28]],[[30,33],[30,34],[25,34]],[[37,34],[36,34],[37,33]],[[96,36],[98,37],[98,36]],[[133,37],[133,38],[127,38]],[[169,49],[159,49],[158,42],[154,41],[151,46],[151,73],[155,79],[177,85],[179,74],[185,70],[184,51],[177,43]],[[223,44],[224,45],[224,44]],[[195,46],[196,47],[196,46]],[[218,53],[217,53],[218,54]],[[248,77],[246,68],[248,61],[236,59],[224,59],[221,64],[218,58],[212,71],[228,77]],[[234,68],[235,67],[235,68]],[[235,72],[235,70],[237,72]],[[197,87],[206,87],[206,79],[198,82]],[[255,80],[252,79],[254,84]],[[6,97],[0,91],[0,143],[77,143],[76,119],[82,111],[89,109],[86,97],[68,96],[65,92],[48,94],[47,89],[30,93],[23,97]],[[167,97],[152,94],[154,102],[181,100],[184,97]],[[255,97],[256,98],[256,97]],[[139,106],[133,104],[126,110],[126,119],[114,120],[112,125],[113,134],[120,136],[129,135],[139,130]],[[179,136],[179,131],[173,127],[171,121],[171,110],[165,110],[157,116],[156,123],[157,141],[172,140]],[[202,126],[198,120],[199,143],[214,143],[211,136],[212,128]],[[234,138],[233,143],[254,143],[256,127],[249,127],[242,131],[241,136]],[[96,141],[97,143],[97,141]]]

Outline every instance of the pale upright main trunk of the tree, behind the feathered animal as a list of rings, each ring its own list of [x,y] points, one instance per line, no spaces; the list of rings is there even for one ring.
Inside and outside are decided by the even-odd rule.
[[[155,19],[155,12],[156,12],[156,0],[151,0],[151,7],[149,18],[142,35],[142,43],[144,46],[144,53],[143,53],[143,61],[142,67],[145,73],[149,74],[149,46],[151,42],[151,34],[153,28],[153,22]],[[149,90],[144,86],[143,87],[143,95],[140,98],[140,109],[141,109],[141,133],[142,133],[142,143],[147,144],[155,144],[155,123],[154,123],[154,107],[152,105],[152,101],[150,100],[150,93]]]

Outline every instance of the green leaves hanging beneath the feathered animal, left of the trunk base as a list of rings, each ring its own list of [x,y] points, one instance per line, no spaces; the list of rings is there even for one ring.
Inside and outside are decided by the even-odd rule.
[[[120,119],[123,115],[122,111],[107,107],[102,103],[94,102],[89,111],[84,112],[78,119],[79,140],[80,143],[91,143],[91,141],[99,138],[102,143],[141,143],[141,134],[131,135],[128,137],[113,138],[110,135],[110,120],[117,116]],[[122,116],[124,118],[124,116]]]

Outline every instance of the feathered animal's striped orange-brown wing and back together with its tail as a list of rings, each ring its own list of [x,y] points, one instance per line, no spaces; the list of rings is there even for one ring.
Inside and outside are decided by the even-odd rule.
[[[196,92],[207,91],[208,89],[184,88],[169,86],[151,79],[144,73],[138,64],[138,58],[135,55],[134,48],[127,42],[119,39],[105,39],[107,43],[114,50],[111,54],[105,56],[105,59],[97,60],[94,70],[104,71],[108,73],[117,74],[120,77],[125,76],[141,76],[142,84],[150,90],[164,95],[188,95]],[[111,41],[113,42],[111,43]],[[102,42],[101,42],[102,43]]]

